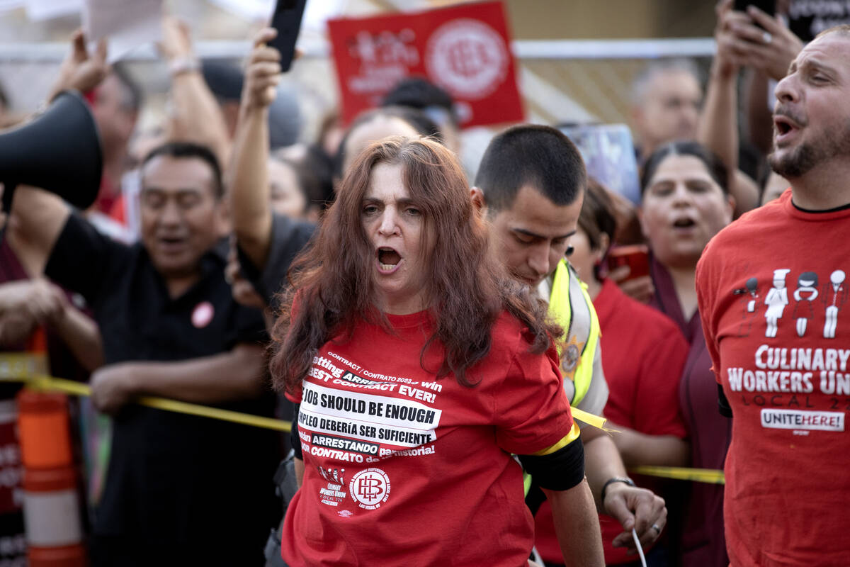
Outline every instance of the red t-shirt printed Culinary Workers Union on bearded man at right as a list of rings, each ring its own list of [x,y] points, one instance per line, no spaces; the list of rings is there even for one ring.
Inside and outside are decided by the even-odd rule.
[[[706,247],[697,293],[732,407],[729,560],[850,561],[850,209],[803,213],[791,191]]]

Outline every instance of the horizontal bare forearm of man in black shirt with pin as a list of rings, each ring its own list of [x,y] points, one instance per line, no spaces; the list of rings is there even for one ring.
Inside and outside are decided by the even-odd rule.
[[[218,404],[260,394],[264,388],[263,349],[239,345],[227,353],[179,362],[138,362],[129,372],[134,395],[152,395],[194,404]]]

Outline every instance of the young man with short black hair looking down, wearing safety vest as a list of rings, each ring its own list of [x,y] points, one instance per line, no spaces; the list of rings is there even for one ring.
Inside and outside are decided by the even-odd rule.
[[[564,259],[586,187],[584,162],[570,139],[554,128],[522,125],[490,142],[471,195],[490,219],[497,254],[514,275],[537,288],[564,327],[561,371],[570,404],[598,415],[608,400],[598,321],[587,292]],[[587,346],[579,349],[580,343]],[[666,524],[664,501],[626,477],[620,454],[604,432],[586,427],[581,438],[597,507],[625,530],[614,545],[633,548],[632,527],[644,546],[655,541]]]

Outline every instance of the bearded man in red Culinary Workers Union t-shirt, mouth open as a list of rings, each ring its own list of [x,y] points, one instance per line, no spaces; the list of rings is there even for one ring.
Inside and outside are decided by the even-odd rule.
[[[697,266],[706,343],[733,414],[726,540],[733,567],[842,565],[850,557],[842,505],[850,492],[850,26],[803,48],[776,98],[769,161],[791,191],[722,230]],[[753,310],[759,316],[742,326]]]

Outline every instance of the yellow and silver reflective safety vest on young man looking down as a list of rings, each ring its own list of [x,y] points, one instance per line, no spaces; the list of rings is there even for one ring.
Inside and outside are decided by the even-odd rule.
[[[579,405],[593,377],[593,357],[600,335],[599,319],[587,294],[587,286],[564,259],[555,269],[549,315],[564,327],[562,343],[558,344],[564,389],[570,405]]]

